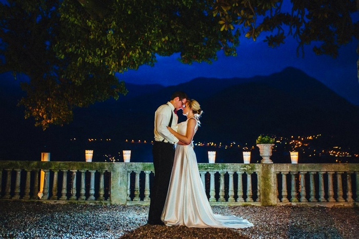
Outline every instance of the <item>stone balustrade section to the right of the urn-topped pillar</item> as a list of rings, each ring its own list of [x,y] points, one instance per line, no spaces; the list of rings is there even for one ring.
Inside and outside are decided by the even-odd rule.
[[[357,164],[277,164],[275,171],[281,185],[278,204],[351,205],[359,201]]]

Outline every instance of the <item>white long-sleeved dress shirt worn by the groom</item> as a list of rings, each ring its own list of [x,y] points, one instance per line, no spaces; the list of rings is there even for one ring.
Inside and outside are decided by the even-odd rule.
[[[177,117],[175,116],[174,106],[171,102],[167,102],[167,104],[163,104],[159,106],[154,113],[154,140],[155,141],[163,141],[165,143],[176,144],[178,143],[178,139],[172,135],[167,126],[171,119],[171,114],[173,115],[171,128],[176,130],[177,126]]]

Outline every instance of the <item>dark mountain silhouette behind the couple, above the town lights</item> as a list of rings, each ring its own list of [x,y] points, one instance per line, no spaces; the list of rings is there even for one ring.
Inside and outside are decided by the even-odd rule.
[[[195,78],[175,86],[126,84],[129,93],[119,100],[77,108],[69,125],[50,126],[45,132],[25,120],[16,107],[19,87],[1,85],[1,159],[27,159],[41,151],[67,151],[86,147],[89,138],[116,142],[153,139],[156,108],[177,90],[196,99],[204,111],[195,141],[240,142],[254,145],[260,134],[290,137],[322,134],[334,143],[358,147],[359,107],[338,96],[301,70],[286,68],[251,78]],[[179,122],[185,117],[177,113]],[[83,154],[83,151],[81,151]],[[28,156],[30,157],[30,156]],[[63,160],[66,160],[64,156]]]

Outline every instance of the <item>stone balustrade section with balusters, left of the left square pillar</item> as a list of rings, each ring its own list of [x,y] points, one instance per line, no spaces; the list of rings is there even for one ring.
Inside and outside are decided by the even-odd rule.
[[[111,167],[101,163],[0,161],[0,175],[2,199],[110,202]]]

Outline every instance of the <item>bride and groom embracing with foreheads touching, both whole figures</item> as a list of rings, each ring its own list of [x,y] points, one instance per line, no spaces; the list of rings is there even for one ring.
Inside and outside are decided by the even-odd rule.
[[[177,124],[175,111],[187,120]],[[173,93],[154,115],[154,181],[148,224],[187,227],[246,228],[243,218],[214,214],[198,171],[192,139],[200,125],[200,104],[184,92]]]

